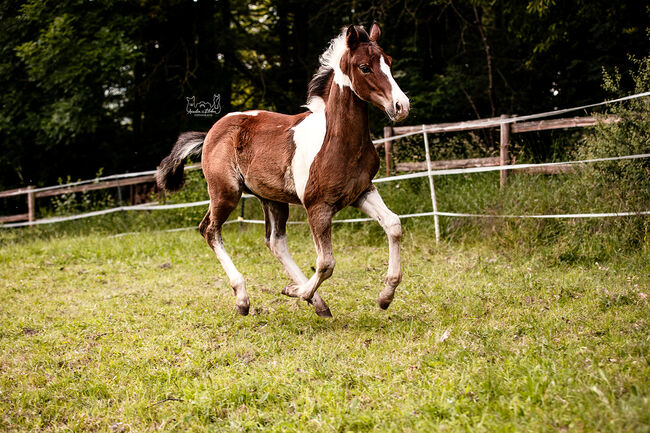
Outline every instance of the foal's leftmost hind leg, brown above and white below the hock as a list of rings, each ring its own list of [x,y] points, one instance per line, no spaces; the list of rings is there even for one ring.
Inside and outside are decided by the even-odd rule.
[[[248,314],[250,308],[250,300],[248,292],[246,291],[246,283],[243,275],[237,270],[230,256],[223,246],[223,238],[221,237],[221,227],[228,219],[230,213],[237,207],[237,202],[241,192],[221,196],[219,199],[211,199],[210,209],[199,225],[199,231],[205,238],[206,242],[212,248],[217,259],[221,263],[224,271],[230,279],[230,285],[235,292],[235,307],[237,312],[242,316]]]

